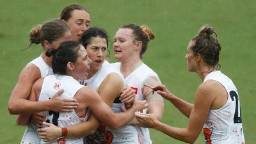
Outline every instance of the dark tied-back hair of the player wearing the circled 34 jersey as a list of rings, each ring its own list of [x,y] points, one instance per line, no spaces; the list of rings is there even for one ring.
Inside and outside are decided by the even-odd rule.
[[[49,49],[46,56],[52,56],[52,70],[54,74],[67,74],[67,63],[76,63],[79,57],[81,44],[76,41],[67,41],[60,44],[58,49]]]

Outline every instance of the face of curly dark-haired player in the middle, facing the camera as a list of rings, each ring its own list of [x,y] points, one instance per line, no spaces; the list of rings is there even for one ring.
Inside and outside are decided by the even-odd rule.
[[[108,45],[105,38],[93,37],[90,44],[86,46],[88,57],[92,60],[90,71],[97,72],[108,54]]]

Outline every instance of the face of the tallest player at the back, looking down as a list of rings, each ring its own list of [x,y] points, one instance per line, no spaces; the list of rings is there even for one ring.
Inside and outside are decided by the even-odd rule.
[[[83,32],[90,28],[90,15],[85,10],[74,10],[66,22],[72,31],[72,39],[79,41]]]

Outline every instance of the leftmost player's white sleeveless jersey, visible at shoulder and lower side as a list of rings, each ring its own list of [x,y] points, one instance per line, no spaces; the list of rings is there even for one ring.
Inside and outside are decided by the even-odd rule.
[[[41,56],[38,56],[38,58],[30,61],[27,65],[29,64],[36,65],[36,67],[39,68],[41,77],[46,77],[53,74],[52,68],[49,67],[47,63],[45,63]],[[36,129],[37,127],[30,123],[26,131],[24,132],[23,138],[20,143],[40,143],[41,138],[38,136]]]

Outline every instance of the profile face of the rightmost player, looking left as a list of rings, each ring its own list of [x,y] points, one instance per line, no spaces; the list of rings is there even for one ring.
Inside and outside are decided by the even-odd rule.
[[[188,66],[188,71],[189,72],[196,72],[196,65],[197,65],[197,61],[196,61],[196,57],[191,49],[191,47],[195,44],[194,41],[190,41],[187,47],[187,53],[186,53],[186,60],[187,60],[187,66]]]

